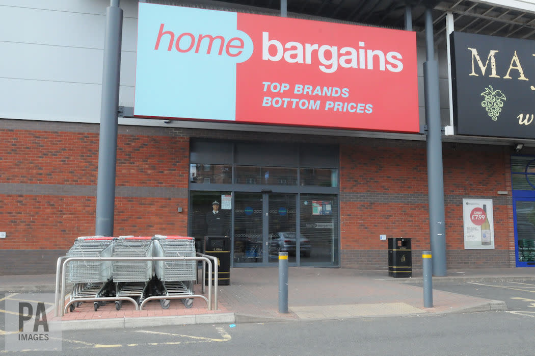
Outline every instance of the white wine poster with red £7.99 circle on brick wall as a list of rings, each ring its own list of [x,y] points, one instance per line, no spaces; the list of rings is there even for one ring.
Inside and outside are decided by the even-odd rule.
[[[492,199],[463,199],[464,249],[494,248]]]

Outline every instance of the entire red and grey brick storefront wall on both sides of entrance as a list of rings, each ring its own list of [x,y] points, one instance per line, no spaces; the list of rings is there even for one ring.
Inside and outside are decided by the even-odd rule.
[[[0,251],[10,260],[34,256],[53,269],[75,237],[94,233],[98,129],[0,120]],[[424,141],[119,126],[114,235],[187,234],[190,137],[339,144],[341,267],[386,269],[380,234],[411,238],[421,267],[430,249]],[[443,152],[448,269],[514,267],[510,148],[444,143]],[[494,250],[464,249],[463,198],[493,199]]]

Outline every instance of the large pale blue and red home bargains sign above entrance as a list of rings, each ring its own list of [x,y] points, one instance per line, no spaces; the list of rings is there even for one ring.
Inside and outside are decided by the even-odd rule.
[[[134,116],[419,132],[416,35],[140,3]]]

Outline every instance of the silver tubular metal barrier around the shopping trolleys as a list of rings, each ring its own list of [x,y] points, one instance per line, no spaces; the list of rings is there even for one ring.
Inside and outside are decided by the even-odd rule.
[[[212,260],[213,263],[210,261]],[[65,276],[66,276],[66,268],[67,265],[70,262],[73,261],[202,261],[202,293],[205,293],[205,270],[206,266],[208,265],[208,274],[212,275],[212,264],[214,266],[214,309],[217,310],[217,288],[218,288],[218,280],[217,280],[217,257],[204,255],[201,253],[197,253],[197,257],[67,257],[67,256],[61,256],[58,258],[56,263],[56,288],[55,288],[55,305],[54,305],[54,316],[64,316],[65,312],[67,311],[68,307],[76,302],[83,302],[83,301],[118,301],[118,300],[126,300],[133,302],[135,305],[136,310],[141,310],[143,305],[148,300],[154,300],[154,299],[184,299],[184,298],[201,298],[204,299],[207,302],[208,310],[212,310],[212,283],[208,283],[208,299],[201,294],[188,294],[185,296],[151,296],[143,300],[141,305],[138,307],[137,302],[131,298],[131,297],[88,297],[88,298],[73,298],[70,301],[67,302],[67,305],[65,304]],[[60,291],[61,290],[61,291]]]

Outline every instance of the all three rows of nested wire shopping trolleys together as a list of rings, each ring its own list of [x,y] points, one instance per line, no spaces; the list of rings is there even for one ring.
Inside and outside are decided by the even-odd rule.
[[[175,257],[172,261],[129,260],[128,257]],[[66,281],[74,283],[71,301],[77,298],[118,298],[120,310],[125,297],[141,305],[149,296],[160,296],[162,308],[170,299],[182,299],[186,308],[193,305],[197,279],[195,240],[185,236],[154,237],[79,237],[67,257],[125,257],[119,261],[71,261],[67,264]],[[172,298],[165,298],[171,297]],[[190,297],[192,296],[192,297]],[[121,299],[122,298],[122,299]],[[128,299],[126,298],[126,299]],[[112,299],[113,300],[113,299]],[[71,312],[81,301],[73,301]],[[105,301],[94,301],[95,311]]]

